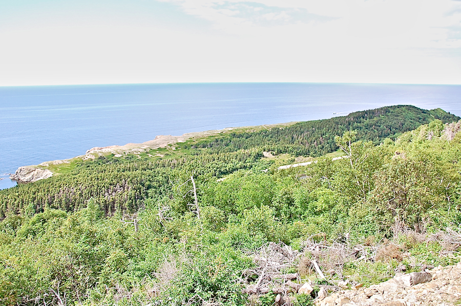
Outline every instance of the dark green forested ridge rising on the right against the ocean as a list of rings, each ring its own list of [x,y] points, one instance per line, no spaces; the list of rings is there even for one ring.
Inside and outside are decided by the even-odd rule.
[[[410,105],[399,105],[354,112],[343,117],[301,122],[285,128],[232,133],[191,146],[209,148],[209,152],[232,152],[260,147],[265,151],[296,156],[321,156],[337,150],[334,137],[348,130],[355,130],[359,139],[371,140],[378,145],[384,138],[395,138],[434,119],[440,119],[443,123],[459,120],[441,109],[423,110]]]

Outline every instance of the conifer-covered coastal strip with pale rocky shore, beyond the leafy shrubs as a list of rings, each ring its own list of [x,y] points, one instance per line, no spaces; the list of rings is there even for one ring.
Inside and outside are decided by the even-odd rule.
[[[90,197],[106,215],[117,209],[133,213],[143,206],[149,193],[171,193],[166,182],[178,173],[209,179],[239,169],[265,169],[274,160],[261,159],[263,151],[279,156],[288,153],[283,156],[285,161],[301,155],[319,156],[338,150],[334,137],[348,130],[357,131],[357,139],[377,145],[386,137],[395,138],[434,119],[448,123],[459,117],[440,109],[393,106],[292,125],[161,136],[139,145],[94,148],[71,160],[34,166],[59,174],[46,182],[0,191],[0,218],[30,203],[37,212],[45,207],[75,211],[85,207]]]

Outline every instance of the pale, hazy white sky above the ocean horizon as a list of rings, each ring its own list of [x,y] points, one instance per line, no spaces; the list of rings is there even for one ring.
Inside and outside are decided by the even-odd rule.
[[[0,0],[0,86],[461,84],[456,0]]]

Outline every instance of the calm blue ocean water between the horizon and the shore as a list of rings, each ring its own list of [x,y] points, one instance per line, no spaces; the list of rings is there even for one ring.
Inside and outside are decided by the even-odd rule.
[[[308,83],[0,87],[0,189],[17,167],[92,147],[410,104],[461,115],[461,86]]]

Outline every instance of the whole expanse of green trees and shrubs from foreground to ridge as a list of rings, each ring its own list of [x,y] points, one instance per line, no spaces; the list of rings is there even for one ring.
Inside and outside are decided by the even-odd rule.
[[[458,261],[459,118],[389,107],[328,120],[173,157],[100,156],[0,191],[1,303],[272,305],[283,275],[368,285]],[[347,158],[286,170],[263,158],[338,148]],[[291,296],[309,305],[319,288]]]

